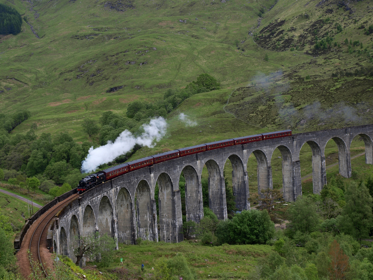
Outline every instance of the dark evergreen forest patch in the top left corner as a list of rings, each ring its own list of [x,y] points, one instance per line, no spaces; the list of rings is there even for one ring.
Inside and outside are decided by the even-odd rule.
[[[0,4],[0,34],[16,35],[21,32],[22,18],[16,9]]]

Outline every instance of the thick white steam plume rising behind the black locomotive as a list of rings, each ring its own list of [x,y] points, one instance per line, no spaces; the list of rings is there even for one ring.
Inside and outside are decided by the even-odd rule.
[[[135,144],[152,148],[166,134],[167,123],[164,118],[159,117],[151,119],[149,124],[143,124],[144,133],[135,137],[128,130],[119,134],[114,142],[108,141],[106,145],[96,149],[93,147],[88,151],[87,158],[82,162],[82,171],[95,171],[101,164],[107,164],[120,155],[123,155],[133,149]]]

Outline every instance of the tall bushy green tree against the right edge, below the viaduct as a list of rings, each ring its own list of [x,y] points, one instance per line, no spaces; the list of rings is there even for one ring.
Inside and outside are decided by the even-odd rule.
[[[339,217],[339,228],[357,240],[369,236],[372,225],[372,197],[363,182],[352,182],[345,192],[346,205]]]

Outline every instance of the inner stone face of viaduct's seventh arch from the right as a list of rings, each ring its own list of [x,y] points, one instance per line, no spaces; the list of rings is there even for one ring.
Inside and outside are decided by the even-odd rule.
[[[205,165],[209,172],[209,208],[219,220],[226,220],[228,213],[224,177],[219,165],[213,159],[208,160]]]

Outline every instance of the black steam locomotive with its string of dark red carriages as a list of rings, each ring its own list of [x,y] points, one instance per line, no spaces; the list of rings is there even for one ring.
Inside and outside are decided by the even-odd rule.
[[[274,139],[279,137],[291,136],[291,130],[281,130],[269,133],[262,133],[233,139],[221,140],[196,146],[186,147],[182,149],[173,150],[170,152],[160,153],[154,156],[147,156],[146,158],[137,159],[127,163],[119,164],[114,167],[107,168],[103,171],[98,171],[94,174],[87,175],[79,181],[78,193],[84,192],[103,183],[107,180],[113,179],[120,175],[134,171],[136,169],[144,168],[153,164],[157,164],[171,159],[179,158],[181,156],[188,156],[195,153],[206,152],[209,150],[220,149],[223,147],[242,145],[250,142]]]

